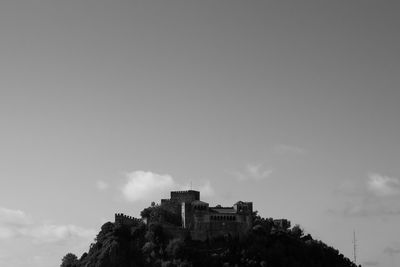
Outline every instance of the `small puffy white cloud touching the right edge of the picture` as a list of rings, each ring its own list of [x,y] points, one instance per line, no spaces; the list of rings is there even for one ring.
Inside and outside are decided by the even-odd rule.
[[[370,173],[367,181],[368,190],[376,196],[394,196],[400,194],[400,180],[397,178]]]

